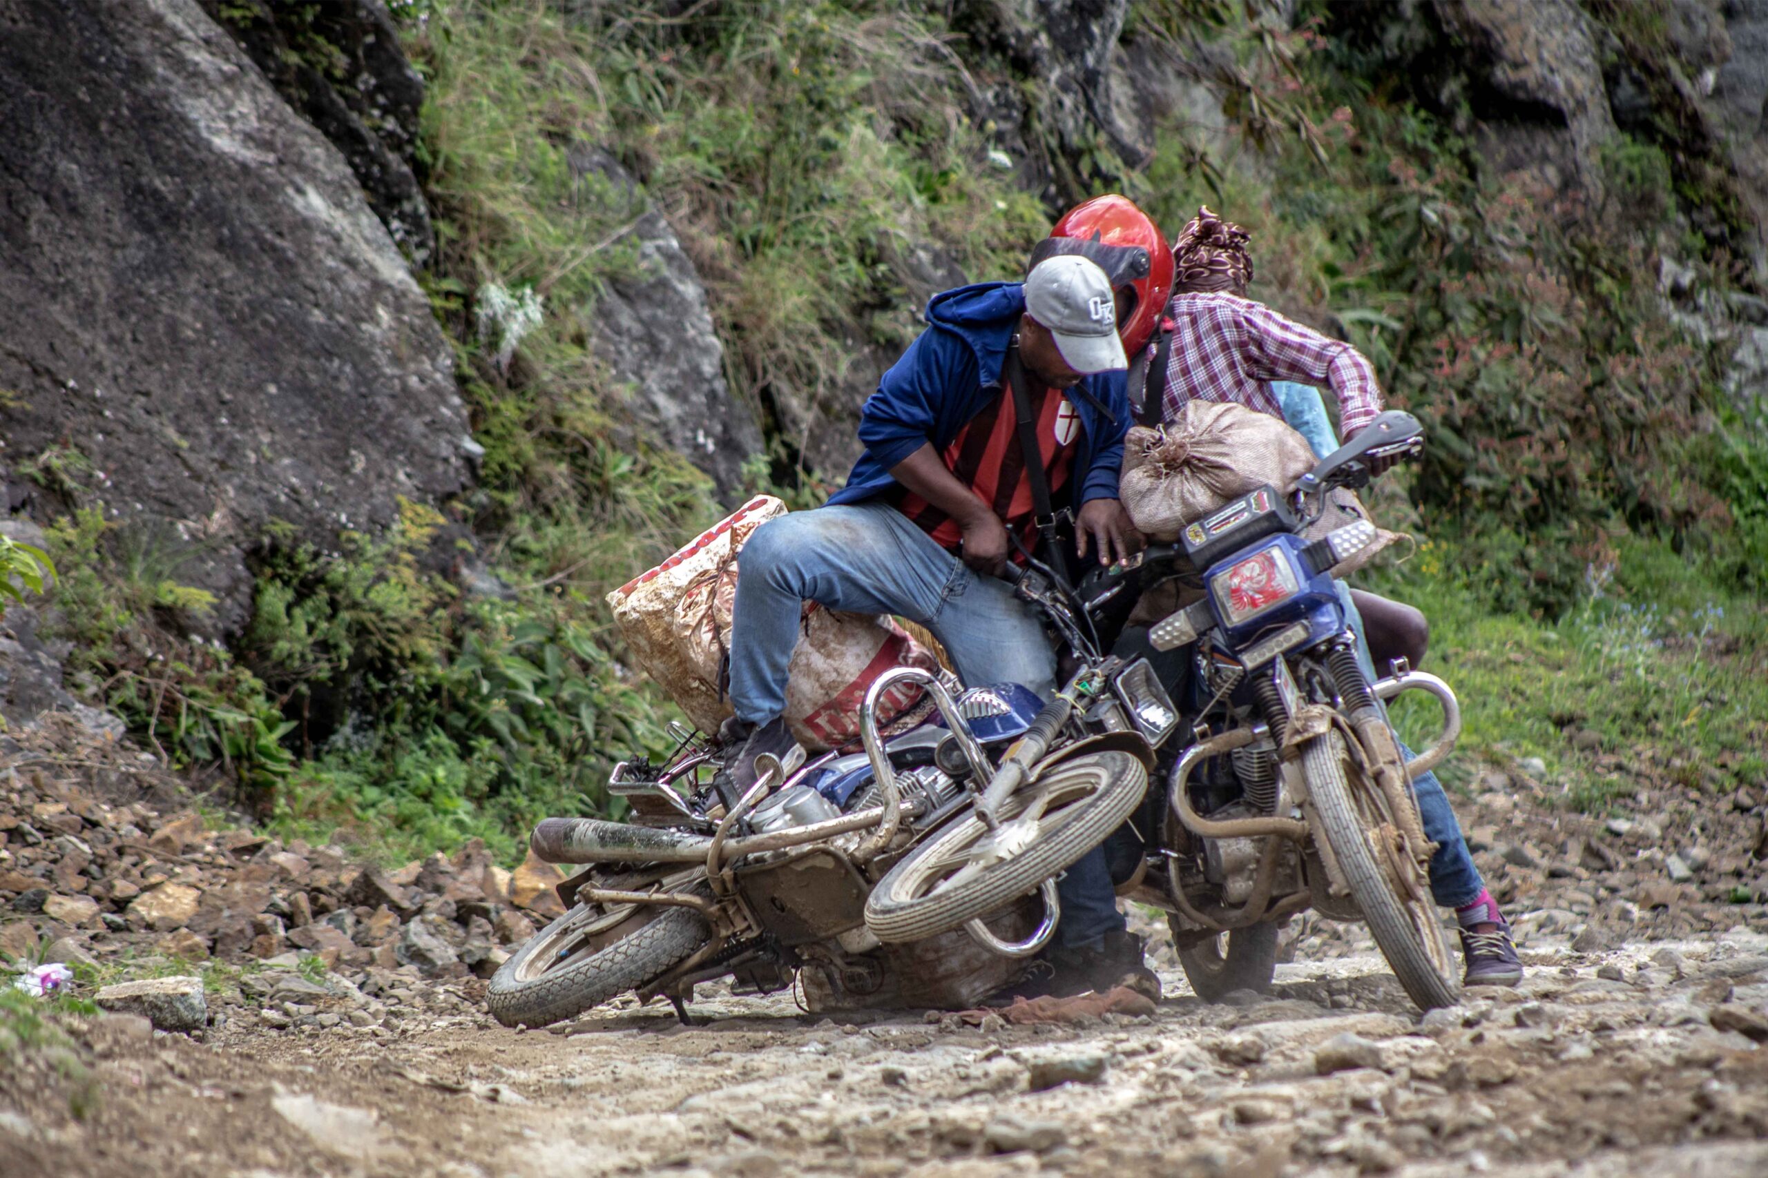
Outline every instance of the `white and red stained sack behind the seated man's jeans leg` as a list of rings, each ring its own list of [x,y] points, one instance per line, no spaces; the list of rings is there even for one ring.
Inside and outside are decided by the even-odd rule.
[[[608,593],[633,659],[704,733],[716,731],[732,712],[725,661],[737,555],[755,528],[781,514],[785,503],[758,495],[656,569]],[[891,618],[806,604],[787,685],[785,719],[792,733],[810,751],[852,744],[866,689],[893,666],[937,671],[939,661]],[[914,708],[921,696],[909,683],[886,692],[880,724]]]

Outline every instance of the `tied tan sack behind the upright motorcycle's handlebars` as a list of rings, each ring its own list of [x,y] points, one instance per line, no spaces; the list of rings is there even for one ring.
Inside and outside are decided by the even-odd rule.
[[[1139,530],[1174,542],[1185,525],[1248,491],[1266,484],[1292,491],[1315,463],[1307,438],[1280,417],[1231,401],[1190,401],[1165,426],[1130,429],[1119,495]],[[1338,487],[1328,493],[1326,509],[1303,535],[1317,539],[1354,519],[1368,519],[1368,510],[1354,493]],[[1340,574],[1361,569],[1395,539],[1377,528],[1376,542],[1345,562]]]

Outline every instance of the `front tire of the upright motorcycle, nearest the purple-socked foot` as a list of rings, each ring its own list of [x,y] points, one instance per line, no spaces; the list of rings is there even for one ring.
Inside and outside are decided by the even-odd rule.
[[[1453,1007],[1460,1001],[1460,982],[1455,980],[1436,904],[1429,892],[1421,902],[1411,904],[1395,894],[1377,858],[1368,821],[1353,800],[1345,763],[1344,735],[1337,729],[1315,736],[1301,749],[1301,766],[1321,832],[1338,858],[1351,897],[1363,910],[1363,922],[1406,994],[1420,1010]],[[1374,789],[1372,784],[1367,788]]]

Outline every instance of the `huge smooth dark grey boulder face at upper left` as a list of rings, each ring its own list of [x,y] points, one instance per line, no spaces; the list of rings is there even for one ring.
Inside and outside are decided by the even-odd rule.
[[[221,632],[267,521],[327,542],[463,487],[449,348],[403,258],[194,0],[0,0],[0,21],[12,484],[50,452],[187,555]]]

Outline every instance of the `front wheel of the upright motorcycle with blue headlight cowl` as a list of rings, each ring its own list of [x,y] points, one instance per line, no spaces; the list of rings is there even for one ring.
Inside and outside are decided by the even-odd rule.
[[[1453,1007],[1460,984],[1436,902],[1425,880],[1411,878],[1421,872],[1406,862],[1386,802],[1353,765],[1344,733],[1330,729],[1303,745],[1301,766],[1319,830],[1393,975],[1418,1008]],[[1397,887],[1398,872],[1411,887]]]

